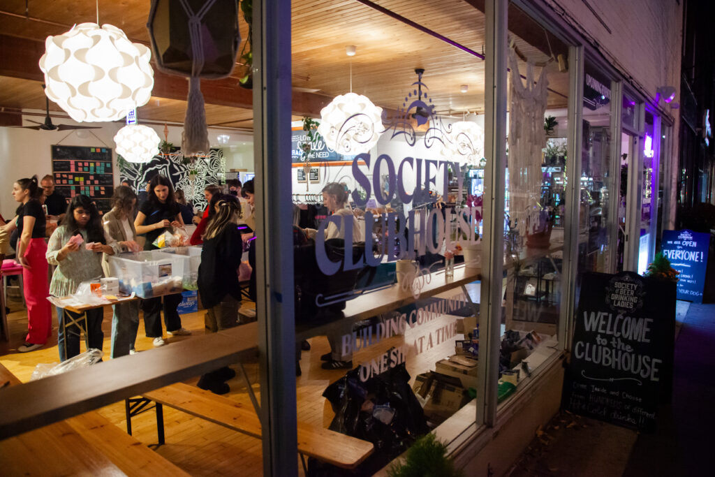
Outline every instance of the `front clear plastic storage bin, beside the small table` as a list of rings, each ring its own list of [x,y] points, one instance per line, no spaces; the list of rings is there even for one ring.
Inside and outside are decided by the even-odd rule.
[[[109,272],[119,279],[119,292],[142,298],[179,293],[183,289],[186,257],[147,250],[109,256]]]

